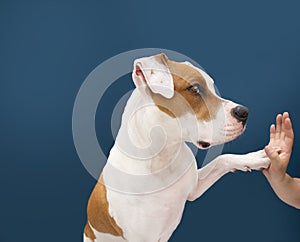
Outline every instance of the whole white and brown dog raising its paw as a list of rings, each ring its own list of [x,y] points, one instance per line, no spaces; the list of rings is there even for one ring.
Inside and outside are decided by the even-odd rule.
[[[185,142],[199,149],[243,133],[248,109],[216,94],[213,79],[164,54],[134,61],[127,101],[107,163],[90,196],[84,242],[165,242],[186,201],[224,174],[267,168],[263,150],[223,154],[197,169]]]

